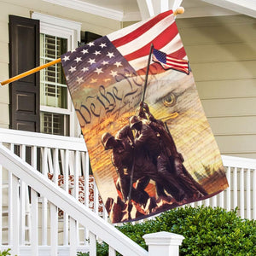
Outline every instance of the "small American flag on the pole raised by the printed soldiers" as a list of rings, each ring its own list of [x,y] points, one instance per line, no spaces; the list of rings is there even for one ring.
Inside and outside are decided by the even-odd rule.
[[[166,55],[166,53],[153,49],[153,61],[160,63],[160,65],[164,69],[174,69],[186,74],[190,73],[189,61],[179,60],[176,58],[172,58],[170,55]]]

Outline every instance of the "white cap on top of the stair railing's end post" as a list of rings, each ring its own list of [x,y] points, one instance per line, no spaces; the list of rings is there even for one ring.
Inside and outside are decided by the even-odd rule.
[[[157,233],[151,233],[143,236],[143,239],[146,241],[147,245],[156,245],[156,244],[169,244],[169,245],[181,245],[185,237],[177,235],[171,232],[161,231]]]

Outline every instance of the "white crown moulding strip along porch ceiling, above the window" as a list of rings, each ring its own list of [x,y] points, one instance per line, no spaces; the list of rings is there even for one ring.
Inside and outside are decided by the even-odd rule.
[[[77,9],[79,11],[83,11],[86,13],[90,13],[93,15],[100,15],[105,18],[113,19],[113,20],[123,20],[124,13],[121,11],[104,8],[91,3],[84,3],[80,0],[43,0],[44,2],[59,4],[61,6]]]

